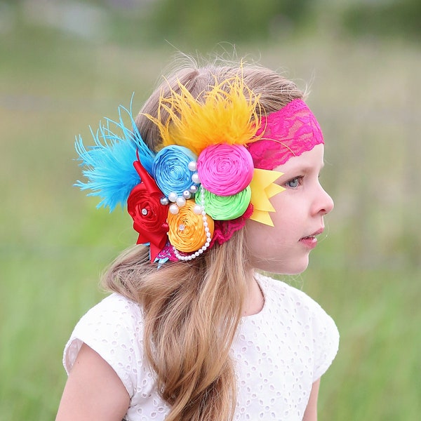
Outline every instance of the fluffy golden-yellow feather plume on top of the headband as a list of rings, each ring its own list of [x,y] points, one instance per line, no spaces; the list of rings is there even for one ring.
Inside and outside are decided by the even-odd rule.
[[[203,99],[196,100],[181,83],[180,93],[159,100],[158,118],[147,115],[158,126],[161,147],[180,145],[196,155],[210,145],[227,143],[246,145],[258,140],[255,133],[260,125],[259,96],[245,85],[241,76],[216,83]],[[161,111],[169,114],[161,121]]]

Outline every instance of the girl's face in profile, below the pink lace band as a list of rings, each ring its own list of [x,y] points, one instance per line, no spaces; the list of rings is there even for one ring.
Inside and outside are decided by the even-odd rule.
[[[323,216],[333,209],[319,182],[323,152],[323,145],[316,145],[274,168],[283,173],[276,183],[286,188],[270,199],[276,210],[270,213],[274,227],[246,221],[250,264],[256,269],[299,274],[307,268],[316,236],[324,229]]]

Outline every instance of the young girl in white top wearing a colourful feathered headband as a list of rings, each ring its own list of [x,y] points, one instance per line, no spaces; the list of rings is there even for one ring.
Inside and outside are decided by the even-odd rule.
[[[338,330],[261,274],[304,271],[333,208],[302,96],[257,65],[183,67],[133,127],[120,107],[76,142],[78,185],[127,205],[139,236],[67,343],[58,421],[316,420]]]

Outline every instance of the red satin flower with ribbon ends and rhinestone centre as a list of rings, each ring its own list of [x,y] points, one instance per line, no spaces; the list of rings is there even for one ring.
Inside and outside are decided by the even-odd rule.
[[[141,182],[127,199],[127,211],[133,218],[133,228],[139,233],[138,244],[150,243],[151,262],[168,239],[168,206],[161,204],[163,194],[140,161],[133,163]]]

